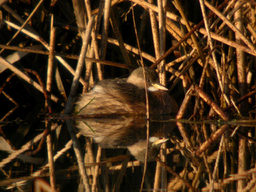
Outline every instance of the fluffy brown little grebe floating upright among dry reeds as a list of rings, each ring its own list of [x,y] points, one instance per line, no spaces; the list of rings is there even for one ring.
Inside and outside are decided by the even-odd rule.
[[[159,83],[157,73],[145,67],[148,87],[149,112],[151,114],[176,114],[177,103],[168,90]],[[146,98],[143,68],[134,70],[127,79],[99,81],[89,93],[76,102],[79,115],[91,114],[145,114]]]

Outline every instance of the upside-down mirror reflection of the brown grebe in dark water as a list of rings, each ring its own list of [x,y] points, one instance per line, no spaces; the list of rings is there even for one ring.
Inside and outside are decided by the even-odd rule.
[[[175,116],[166,116],[173,119]],[[154,116],[149,124],[148,161],[154,161],[160,145],[166,142],[161,137],[168,136],[175,127],[174,122],[159,122],[163,116]],[[81,134],[93,138],[102,148],[128,148],[130,153],[143,162],[146,152],[146,118],[145,116],[115,116],[113,118],[80,119],[76,126]]]

